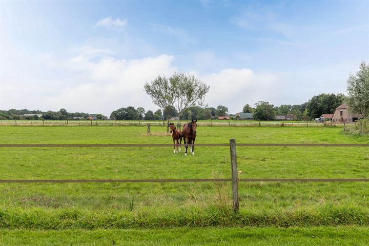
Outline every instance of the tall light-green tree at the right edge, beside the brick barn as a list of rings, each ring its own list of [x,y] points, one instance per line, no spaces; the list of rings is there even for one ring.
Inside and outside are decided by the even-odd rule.
[[[347,80],[347,105],[353,113],[369,118],[369,64],[362,61],[356,75]]]

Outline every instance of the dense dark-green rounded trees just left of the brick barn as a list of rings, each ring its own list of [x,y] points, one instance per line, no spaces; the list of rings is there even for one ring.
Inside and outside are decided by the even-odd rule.
[[[306,106],[309,118],[319,118],[322,114],[333,114],[334,110],[343,103],[343,94],[319,94],[313,96]]]

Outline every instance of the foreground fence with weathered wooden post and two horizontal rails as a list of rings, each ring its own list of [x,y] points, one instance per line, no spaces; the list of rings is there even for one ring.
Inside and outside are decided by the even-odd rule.
[[[186,145],[184,145],[186,146]],[[190,146],[190,145],[189,145]],[[236,147],[369,147],[369,144],[195,144],[196,147],[230,147],[231,177],[209,179],[0,179],[0,183],[104,183],[104,182],[232,182],[233,209],[239,211],[239,182],[369,182],[369,178],[238,178]],[[25,147],[173,147],[172,144],[0,144],[0,148]]]

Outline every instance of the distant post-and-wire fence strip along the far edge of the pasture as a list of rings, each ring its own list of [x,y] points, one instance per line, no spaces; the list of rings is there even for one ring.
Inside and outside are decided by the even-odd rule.
[[[181,121],[183,126],[188,121]],[[199,126],[207,127],[338,127],[356,126],[360,122],[318,122],[309,120],[203,120]],[[150,120],[0,120],[0,126],[163,126],[167,121]]]

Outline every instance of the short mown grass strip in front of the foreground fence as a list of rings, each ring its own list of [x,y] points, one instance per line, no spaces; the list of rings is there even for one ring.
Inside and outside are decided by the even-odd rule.
[[[369,229],[0,230],[0,245],[367,245]]]

